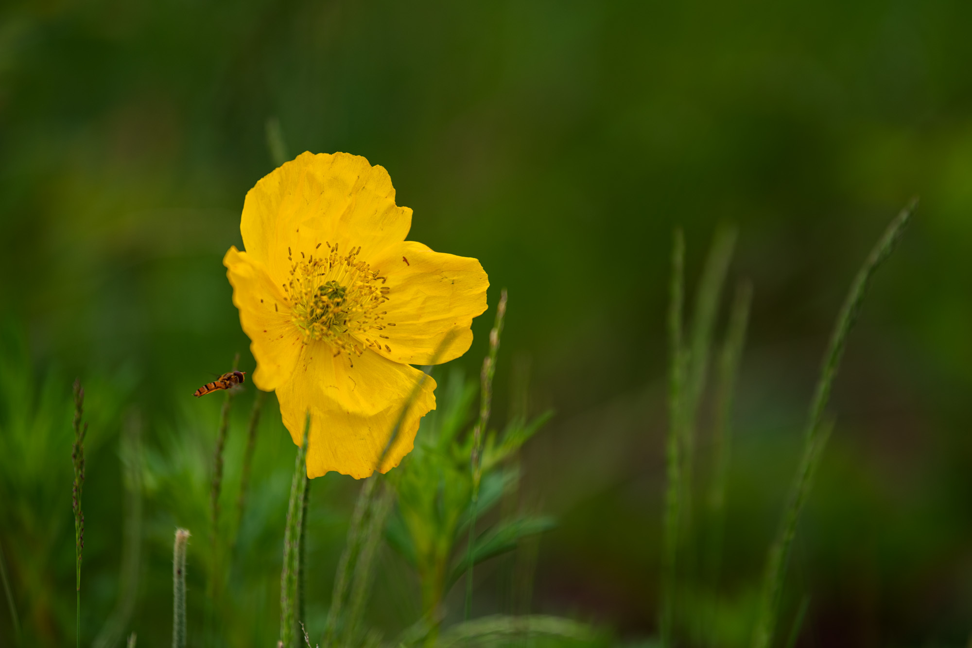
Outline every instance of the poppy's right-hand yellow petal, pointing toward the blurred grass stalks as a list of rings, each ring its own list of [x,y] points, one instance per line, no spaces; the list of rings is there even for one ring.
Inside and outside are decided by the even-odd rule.
[[[383,250],[371,266],[388,277],[385,285],[391,289],[384,320],[390,324],[376,341],[382,344],[381,355],[395,362],[428,365],[448,362],[469,350],[469,326],[473,317],[486,310],[489,287],[478,261],[403,241]]]

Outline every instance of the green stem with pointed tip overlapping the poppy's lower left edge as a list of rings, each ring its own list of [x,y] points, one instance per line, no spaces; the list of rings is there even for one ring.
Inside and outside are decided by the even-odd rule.
[[[303,537],[304,493],[307,491],[307,439],[310,436],[310,413],[304,418],[303,441],[297,449],[291,499],[287,505],[284,528],[284,565],[280,572],[280,643],[295,648],[297,640],[297,607],[299,606],[300,540]]]

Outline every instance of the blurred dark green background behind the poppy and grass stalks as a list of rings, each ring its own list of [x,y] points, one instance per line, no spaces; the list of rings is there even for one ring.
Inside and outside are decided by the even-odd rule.
[[[731,281],[754,286],[725,549],[725,607],[746,609],[831,322],[872,241],[919,196],[851,337],[787,587],[811,597],[800,645],[964,645],[970,20],[972,5],[944,0],[7,3],[0,318],[34,370],[15,374],[11,351],[0,372],[8,389],[48,377],[65,403],[74,376],[88,385],[100,445],[88,464],[85,631],[117,592],[123,412],[137,404],[147,449],[173,465],[172,431],[193,430],[204,471],[219,402],[191,392],[236,351],[253,369],[221,261],[241,245],[243,197],[273,168],[265,129],[277,118],[291,157],[347,151],[385,166],[414,209],[409,238],[479,259],[491,306],[508,288],[497,420],[511,368],[528,364],[532,410],[557,413],[525,454],[522,500],[560,519],[539,543],[533,609],[621,640],[656,631],[673,229],[685,230],[692,285],[716,226],[737,224]],[[492,312],[455,363],[470,376]],[[24,389],[21,404],[39,402]],[[9,391],[4,415],[15,401]],[[66,406],[51,415],[67,427]],[[260,448],[284,481],[255,484],[276,506],[293,447],[274,406],[266,418]],[[0,543],[38,645],[73,639],[67,439],[21,466],[51,489],[60,521],[33,531],[52,543],[35,565],[46,602],[8,547],[23,545],[22,510],[42,511],[30,499],[41,495],[0,501]],[[3,462],[10,475],[22,463]],[[321,482],[312,594],[326,611],[356,485]],[[172,528],[191,523],[157,494],[177,499],[170,486],[147,504],[139,645],[169,641],[166,552]],[[274,523],[252,565],[266,574],[270,620]],[[483,613],[503,607],[490,587]],[[0,636],[11,631],[4,612]]]

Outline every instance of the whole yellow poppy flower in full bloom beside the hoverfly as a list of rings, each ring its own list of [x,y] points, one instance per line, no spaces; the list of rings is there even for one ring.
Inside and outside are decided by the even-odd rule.
[[[223,260],[257,359],[296,444],[311,415],[307,476],[388,472],[435,409],[435,381],[411,365],[469,349],[486,309],[475,259],[405,240],[412,210],[388,172],[346,153],[304,153],[262,178],[243,204],[246,252]],[[403,408],[399,434],[377,466]]]

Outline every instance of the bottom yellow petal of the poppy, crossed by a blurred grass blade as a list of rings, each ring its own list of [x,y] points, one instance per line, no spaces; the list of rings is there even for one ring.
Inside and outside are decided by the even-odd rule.
[[[292,379],[277,387],[277,399],[295,444],[310,411],[307,477],[336,471],[363,479],[374,472],[406,405],[380,472],[399,465],[412,450],[419,419],[435,409],[434,388],[433,378],[371,351],[349,361],[346,354],[334,356],[326,342],[312,342],[304,347]]]

